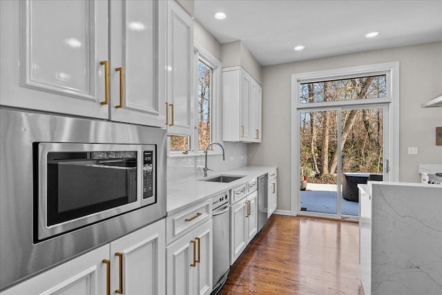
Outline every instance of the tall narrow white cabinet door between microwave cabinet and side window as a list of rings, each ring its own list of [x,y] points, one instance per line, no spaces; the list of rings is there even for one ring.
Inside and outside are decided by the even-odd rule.
[[[193,134],[193,22],[175,1],[167,1],[167,103],[168,132]]]

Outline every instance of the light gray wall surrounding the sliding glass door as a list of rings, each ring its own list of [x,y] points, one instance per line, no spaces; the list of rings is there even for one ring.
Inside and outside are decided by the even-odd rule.
[[[399,179],[419,182],[419,164],[442,163],[435,145],[435,127],[442,126],[442,108],[421,104],[442,93],[442,42],[312,59],[262,68],[262,144],[249,144],[249,165],[278,166],[278,209],[290,210],[291,74],[400,62]],[[418,155],[408,155],[417,146]],[[297,175],[295,176],[297,177]]]

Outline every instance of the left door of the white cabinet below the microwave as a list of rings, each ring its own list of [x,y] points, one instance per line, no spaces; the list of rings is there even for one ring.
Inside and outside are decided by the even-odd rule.
[[[48,254],[50,255],[50,254]],[[106,294],[109,245],[104,245],[1,292],[1,295]]]

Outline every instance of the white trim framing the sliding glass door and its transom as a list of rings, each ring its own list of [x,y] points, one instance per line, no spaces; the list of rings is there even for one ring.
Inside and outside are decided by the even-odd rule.
[[[332,70],[322,70],[308,73],[297,73],[291,75],[291,181],[290,181],[290,210],[291,215],[296,216],[300,213],[298,209],[298,155],[299,155],[299,138],[297,129],[294,126],[298,126],[299,118],[298,111],[305,111],[307,108],[340,108],[344,106],[356,106],[357,104],[365,104],[370,106],[375,105],[388,105],[390,115],[387,116],[387,129],[390,146],[387,151],[387,160],[390,162],[389,181],[396,182],[399,180],[399,61],[392,61],[384,64],[372,64],[367,66],[354,66],[349,68],[337,68]],[[366,99],[363,102],[361,100],[346,101],[346,102],[319,102],[315,104],[299,104],[299,92],[298,84],[301,82],[317,82],[325,79],[336,78],[349,78],[349,77],[361,77],[361,75],[379,75],[386,74],[387,81],[387,97],[382,99]],[[318,213],[307,213],[302,211],[302,214],[306,213],[309,216],[323,216]]]

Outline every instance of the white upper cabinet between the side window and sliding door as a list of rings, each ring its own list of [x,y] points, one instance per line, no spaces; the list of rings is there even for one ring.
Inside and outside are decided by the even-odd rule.
[[[261,142],[262,90],[239,66],[222,72],[222,140]]]

